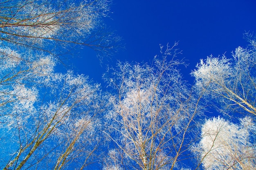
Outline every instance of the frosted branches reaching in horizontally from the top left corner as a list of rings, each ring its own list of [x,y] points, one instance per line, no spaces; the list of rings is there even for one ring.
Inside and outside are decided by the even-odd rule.
[[[13,4],[6,3],[5,5],[7,7],[12,5],[12,13],[15,12],[16,15],[11,16],[11,14],[3,13],[6,17],[2,20],[6,24],[0,24],[0,28],[9,26],[10,28],[7,27],[7,31],[17,33],[16,36],[37,38],[36,40],[41,41],[44,38],[57,38],[58,34],[64,33],[64,31],[72,30],[81,35],[88,34],[97,27],[101,15],[106,15],[106,11],[108,11],[108,2],[105,0],[99,2],[83,1],[80,4],[15,0]]]

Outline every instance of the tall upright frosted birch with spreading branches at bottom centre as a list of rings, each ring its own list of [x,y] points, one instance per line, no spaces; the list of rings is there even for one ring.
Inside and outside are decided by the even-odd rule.
[[[175,45],[152,65],[119,63],[106,80],[117,90],[109,96],[104,131],[115,147],[106,170],[172,170],[184,159],[197,100],[182,81]]]

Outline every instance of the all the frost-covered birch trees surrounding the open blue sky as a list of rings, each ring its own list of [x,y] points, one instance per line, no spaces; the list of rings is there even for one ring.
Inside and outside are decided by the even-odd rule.
[[[116,60],[111,5],[0,0],[0,169],[255,170],[255,30],[247,46],[200,56],[191,81],[181,42]],[[102,83],[69,66],[80,48]]]

